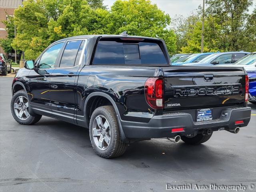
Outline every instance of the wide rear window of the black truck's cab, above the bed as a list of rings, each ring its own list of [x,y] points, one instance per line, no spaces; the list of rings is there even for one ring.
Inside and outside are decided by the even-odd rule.
[[[99,41],[93,64],[167,64],[155,42]]]

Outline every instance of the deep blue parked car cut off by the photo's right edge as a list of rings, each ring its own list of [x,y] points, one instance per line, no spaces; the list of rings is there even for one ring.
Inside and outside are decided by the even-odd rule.
[[[249,77],[249,101],[256,104],[256,52],[244,56],[233,65],[244,67],[247,71]]]

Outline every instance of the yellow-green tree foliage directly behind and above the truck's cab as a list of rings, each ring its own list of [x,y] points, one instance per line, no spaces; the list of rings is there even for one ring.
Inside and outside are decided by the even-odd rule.
[[[26,0],[14,13],[17,35],[12,46],[35,59],[50,43],[76,35],[120,34],[163,38],[168,51],[176,38],[170,16],[149,0],[117,0],[110,10],[102,0]]]

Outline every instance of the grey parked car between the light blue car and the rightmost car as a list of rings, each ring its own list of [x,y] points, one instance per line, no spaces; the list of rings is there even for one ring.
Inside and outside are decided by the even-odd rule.
[[[189,66],[218,66],[218,65],[226,65],[232,64],[238,61],[240,58],[248,55],[250,52],[223,52],[223,53],[214,53],[210,56],[202,59],[197,63],[185,63],[181,65],[189,65]]]

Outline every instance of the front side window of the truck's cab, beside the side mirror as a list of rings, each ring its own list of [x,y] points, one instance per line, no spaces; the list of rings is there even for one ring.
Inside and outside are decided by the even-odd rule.
[[[48,50],[42,54],[38,68],[53,68],[63,45],[64,42],[61,42],[48,48]]]

